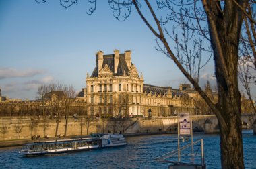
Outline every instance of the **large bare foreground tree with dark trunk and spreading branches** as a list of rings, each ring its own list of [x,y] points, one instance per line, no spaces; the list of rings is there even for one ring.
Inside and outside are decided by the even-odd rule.
[[[40,3],[46,2],[46,0],[36,1]],[[96,10],[96,0],[89,2],[94,4],[94,7],[89,9],[90,14],[92,14]],[[61,5],[64,7],[70,7],[74,3],[77,3],[77,1],[61,1]],[[156,5],[152,6],[148,0],[144,0],[143,5],[148,9],[152,19],[148,19],[148,15],[146,17],[146,9],[141,10],[144,6],[139,4],[137,0],[112,0],[109,1],[109,5],[113,9],[114,17],[122,21],[129,17],[132,6],[135,6],[139,17],[141,17],[152,34],[156,36],[158,44],[162,44],[159,45],[160,51],[173,60],[216,114],[220,125],[222,168],[244,168],[241,133],[241,96],[237,78],[238,47],[243,20],[248,18],[248,21],[255,26],[254,17],[251,17],[247,12],[249,9],[254,9],[255,1],[250,1],[249,3],[249,0],[188,0],[186,2],[158,0]],[[253,7],[249,5],[253,5]],[[156,13],[153,7],[162,10],[158,10],[158,13]],[[166,13],[162,12],[164,10],[166,10]],[[166,19],[163,21],[163,18]],[[170,34],[167,23],[173,27],[173,31],[176,28],[174,27],[176,23],[179,27],[185,27],[185,31],[183,30],[181,33],[181,36],[185,38],[176,36],[177,33]],[[196,31],[197,36],[188,34],[187,31],[189,30]],[[198,38],[199,36],[203,39]],[[191,38],[194,38],[195,42],[200,42],[201,40],[208,40],[210,42],[209,51],[213,52],[216,82],[218,85],[218,103],[212,102],[198,84],[199,72],[197,70],[201,66],[195,69],[187,67],[191,63],[191,57],[201,55],[200,50],[195,50],[195,53],[199,52],[199,54],[187,54],[190,51],[191,53],[194,52],[193,50],[186,49],[189,48],[187,44],[189,44],[188,40]],[[176,50],[175,46],[171,46],[172,42],[178,44]],[[201,49],[200,43],[195,43],[193,46],[198,46],[197,48]],[[178,47],[181,48],[183,53],[177,52],[179,50]],[[183,62],[183,58],[187,57],[189,60]],[[194,67],[198,64],[191,65]],[[197,72],[198,76],[195,76],[194,72]]]

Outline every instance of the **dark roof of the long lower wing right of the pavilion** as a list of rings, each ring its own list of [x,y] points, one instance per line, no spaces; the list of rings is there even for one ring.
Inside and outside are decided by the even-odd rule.
[[[150,93],[150,91],[151,91],[152,94],[156,93],[156,95],[161,95],[161,93],[162,93],[164,95],[165,93],[168,92],[169,89],[172,93],[172,97],[187,95],[187,93],[183,93],[182,91],[179,91],[178,89],[172,89],[172,87],[157,87],[157,86],[150,85],[150,84],[144,84],[144,86],[143,86],[143,92],[146,94]]]

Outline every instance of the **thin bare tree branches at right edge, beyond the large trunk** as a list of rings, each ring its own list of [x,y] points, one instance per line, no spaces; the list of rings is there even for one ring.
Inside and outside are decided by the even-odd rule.
[[[251,88],[256,87],[256,17],[255,1],[249,1],[247,17],[244,18],[239,44],[238,77],[256,113]],[[255,96],[254,96],[255,97]]]

